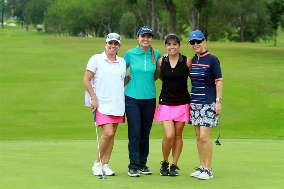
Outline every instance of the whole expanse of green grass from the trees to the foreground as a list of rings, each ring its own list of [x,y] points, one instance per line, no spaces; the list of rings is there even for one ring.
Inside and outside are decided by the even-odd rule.
[[[97,153],[93,115],[84,107],[83,75],[104,38],[55,37],[5,26],[0,30],[0,188],[284,189],[284,32],[270,43],[206,43],[223,75],[221,146],[214,145],[214,178],[189,177],[199,166],[193,126],[186,124],[178,177],[159,175],[163,129],[153,123],[147,166],[129,177],[127,124],[120,124],[110,166],[117,176],[92,174]],[[182,41],[180,52],[192,57]],[[137,45],[122,38],[118,53]],[[164,42],[153,47],[166,53]],[[190,80],[189,91],[191,89]],[[156,82],[157,95],[161,81]],[[99,134],[101,129],[99,128]],[[218,129],[212,131],[212,141]]]

